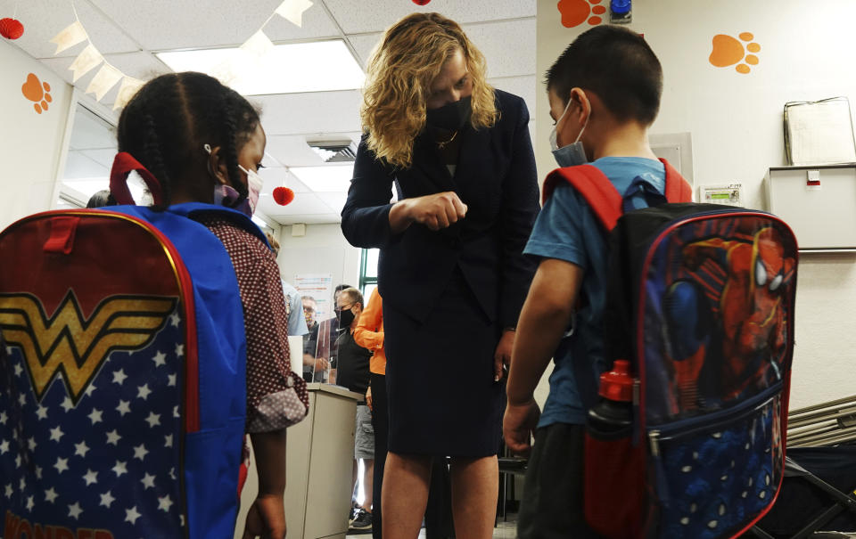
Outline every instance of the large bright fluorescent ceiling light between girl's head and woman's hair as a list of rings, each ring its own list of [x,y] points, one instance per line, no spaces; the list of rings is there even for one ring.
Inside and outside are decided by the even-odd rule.
[[[366,74],[342,39],[275,45],[258,57],[240,48],[157,53],[174,71],[202,71],[217,77],[224,69],[230,86],[243,95],[293,94],[361,88]]]

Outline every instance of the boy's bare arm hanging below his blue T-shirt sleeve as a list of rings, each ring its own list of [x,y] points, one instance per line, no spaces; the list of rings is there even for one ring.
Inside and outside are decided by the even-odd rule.
[[[508,405],[503,421],[506,445],[514,453],[525,454],[531,449],[530,435],[540,415],[533,394],[571,323],[582,275],[579,265],[545,258],[523,304],[508,372]]]

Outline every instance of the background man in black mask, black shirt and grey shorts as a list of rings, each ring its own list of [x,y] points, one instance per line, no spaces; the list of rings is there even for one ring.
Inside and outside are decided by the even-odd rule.
[[[372,353],[360,347],[354,340],[359,315],[363,312],[363,295],[359,290],[348,288],[341,290],[336,299],[336,319],[342,334],[336,340],[338,355],[332,362],[335,374],[331,370],[330,381],[360,395],[366,395],[370,378],[369,360]],[[372,484],[374,481],[374,429],[372,412],[366,402],[357,405],[357,425],[354,439],[354,475],[352,496],[356,497],[358,479],[358,461],[363,460],[363,506],[355,506],[356,514],[350,523],[350,532],[371,533],[372,529]]]

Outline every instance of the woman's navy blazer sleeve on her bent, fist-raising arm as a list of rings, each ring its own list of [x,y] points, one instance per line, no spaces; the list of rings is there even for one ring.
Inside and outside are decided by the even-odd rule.
[[[363,135],[354,162],[348,200],[342,208],[342,233],[354,247],[383,248],[392,239],[390,210],[394,176],[366,145]]]

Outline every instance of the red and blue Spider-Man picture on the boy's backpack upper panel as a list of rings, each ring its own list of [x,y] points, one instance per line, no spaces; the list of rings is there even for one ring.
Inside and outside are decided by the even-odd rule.
[[[666,290],[663,306],[678,398],[672,405],[683,411],[704,405],[699,398],[713,404],[757,393],[781,379],[787,349],[782,291],[794,276],[793,253],[786,252],[781,234],[771,227],[735,236],[687,244],[682,260],[688,276]],[[724,274],[718,295],[693,277],[711,263]]]

